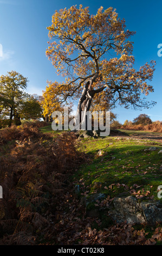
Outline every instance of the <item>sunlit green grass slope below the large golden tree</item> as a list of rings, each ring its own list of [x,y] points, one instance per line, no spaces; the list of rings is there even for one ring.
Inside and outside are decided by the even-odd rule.
[[[111,198],[121,193],[130,195],[131,189],[135,189],[144,198],[153,196],[158,200],[157,187],[162,185],[162,155],[158,154],[159,150],[144,151],[151,146],[159,150],[162,148],[158,142],[144,140],[122,138],[118,141],[114,137],[83,139],[80,150],[87,153],[89,162],[82,164],[73,178],[80,184],[82,193],[95,193],[95,184],[100,182],[97,192]],[[99,149],[104,151],[103,156],[97,156]],[[145,196],[147,191],[150,193]],[[135,194],[132,193],[132,196]]]

